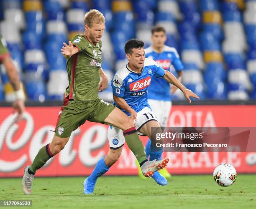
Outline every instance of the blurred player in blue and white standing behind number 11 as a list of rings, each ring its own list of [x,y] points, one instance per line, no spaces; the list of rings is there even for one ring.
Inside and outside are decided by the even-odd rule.
[[[164,27],[155,26],[151,29],[153,45],[145,49],[146,58],[152,58],[156,61],[164,70],[170,71],[174,75],[177,74],[179,81],[182,80],[182,69],[184,68],[179,58],[177,50],[173,47],[165,45],[166,32]],[[175,72],[177,71],[177,73]],[[169,114],[172,108],[172,96],[177,90],[177,87],[172,85],[170,91],[170,84],[163,78],[156,79],[152,77],[151,85],[148,88],[148,104],[151,106],[157,120],[161,127],[167,125]],[[151,152],[151,140],[148,139],[146,144],[146,156],[150,156]],[[159,171],[166,179],[171,178],[171,174],[166,168]],[[141,178],[141,172],[138,172]]]

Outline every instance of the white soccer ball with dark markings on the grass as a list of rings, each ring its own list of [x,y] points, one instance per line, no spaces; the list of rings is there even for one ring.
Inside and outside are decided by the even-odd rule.
[[[214,181],[220,186],[230,186],[236,181],[236,169],[230,164],[220,164],[213,171]]]

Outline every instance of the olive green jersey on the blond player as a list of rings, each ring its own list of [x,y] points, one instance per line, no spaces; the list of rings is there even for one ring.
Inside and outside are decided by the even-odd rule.
[[[94,45],[84,35],[75,35],[71,42],[79,52],[67,59],[69,86],[65,96],[77,101],[95,100],[100,82],[102,43]]]

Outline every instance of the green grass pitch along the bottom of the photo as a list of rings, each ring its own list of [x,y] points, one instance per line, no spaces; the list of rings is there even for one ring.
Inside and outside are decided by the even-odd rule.
[[[173,176],[166,186],[159,186],[153,179],[137,176],[103,176],[94,195],[84,195],[82,177],[38,177],[33,193],[27,196],[22,192],[21,179],[0,179],[0,200],[32,200],[36,209],[256,208],[255,180],[256,174],[240,174],[235,184],[221,187],[212,175],[189,175]]]

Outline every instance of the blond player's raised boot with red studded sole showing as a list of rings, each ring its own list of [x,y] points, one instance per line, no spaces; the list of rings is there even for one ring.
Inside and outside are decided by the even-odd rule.
[[[153,161],[147,161],[141,166],[141,172],[144,176],[151,178],[155,171],[163,169],[168,162],[168,158],[164,158],[159,161],[157,161],[156,159]]]

